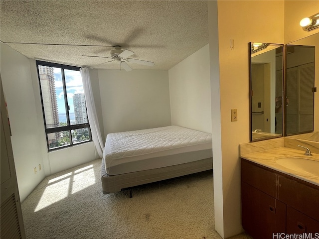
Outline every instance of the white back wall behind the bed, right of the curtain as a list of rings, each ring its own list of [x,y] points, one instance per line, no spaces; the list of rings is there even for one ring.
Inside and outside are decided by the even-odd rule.
[[[168,72],[99,70],[104,134],[171,125]]]

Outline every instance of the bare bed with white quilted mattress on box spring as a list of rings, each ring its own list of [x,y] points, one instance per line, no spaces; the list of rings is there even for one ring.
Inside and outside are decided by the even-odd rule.
[[[210,133],[176,125],[109,133],[101,165],[103,194],[212,167]]]

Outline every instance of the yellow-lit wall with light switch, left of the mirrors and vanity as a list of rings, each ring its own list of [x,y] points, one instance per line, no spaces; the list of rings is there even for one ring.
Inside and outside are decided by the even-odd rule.
[[[216,44],[215,4],[208,1],[210,48]],[[211,76],[212,133],[221,139],[216,146],[213,142],[215,228],[229,238],[242,232],[239,144],[249,142],[250,132],[248,42],[284,43],[284,1],[221,0],[217,6],[220,79]],[[211,61],[216,62],[217,49],[210,52]],[[217,75],[218,69],[213,69],[211,74]],[[213,90],[220,93],[220,100]],[[238,109],[238,121],[231,121],[231,109]]]

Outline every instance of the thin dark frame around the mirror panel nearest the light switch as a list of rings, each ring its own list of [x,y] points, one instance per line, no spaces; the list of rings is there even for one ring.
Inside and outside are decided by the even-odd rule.
[[[261,141],[261,140],[267,140],[267,139],[272,139],[272,138],[279,138],[279,137],[283,137],[285,135],[285,114],[284,112],[286,111],[286,104],[283,104],[283,107],[282,107],[282,132],[281,132],[281,135],[269,135],[269,136],[265,136],[265,137],[262,137],[262,138],[258,138],[258,139],[253,139],[253,128],[252,128],[252,44],[253,42],[249,42],[248,43],[248,53],[249,53],[249,61],[248,61],[248,65],[249,65],[249,128],[250,128],[250,134],[249,134],[249,137],[250,137],[250,142],[256,142],[256,141]],[[283,74],[282,74],[282,99],[286,99],[285,98],[285,84],[286,84],[286,80],[285,80],[285,74],[286,74],[286,71],[284,70],[285,67],[286,67],[286,57],[285,54],[286,54],[286,45],[284,44],[276,44],[276,43],[262,43],[262,46],[264,46],[262,49],[265,49],[268,45],[270,46],[278,46],[278,47],[282,47],[282,70],[283,70]],[[266,46],[266,47],[265,47]],[[262,50],[261,49],[261,50]]]

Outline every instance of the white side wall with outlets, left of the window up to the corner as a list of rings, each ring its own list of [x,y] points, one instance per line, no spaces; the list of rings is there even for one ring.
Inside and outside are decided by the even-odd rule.
[[[11,142],[20,199],[23,201],[45,177],[44,170],[34,174],[33,168],[43,165],[35,98],[29,59],[0,43],[1,79],[11,126]],[[42,123],[43,124],[43,123]]]

